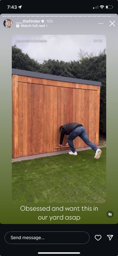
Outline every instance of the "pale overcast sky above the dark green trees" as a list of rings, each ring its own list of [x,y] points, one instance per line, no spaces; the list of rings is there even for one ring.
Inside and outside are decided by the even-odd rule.
[[[94,43],[94,39],[101,39],[102,43]],[[47,42],[21,43],[16,40],[47,40]],[[16,45],[23,53],[27,53],[39,63],[48,59],[77,61],[79,49],[88,54],[93,52],[97,56],[106,48],[103,35],[16,35],[12,38],[12,45]]]

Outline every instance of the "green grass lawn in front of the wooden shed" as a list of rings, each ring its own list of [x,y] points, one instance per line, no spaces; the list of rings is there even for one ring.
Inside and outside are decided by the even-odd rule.
[[[106,197],[106,149],[100,159],[92,150],[12,163],[15,202],[103,203]]]

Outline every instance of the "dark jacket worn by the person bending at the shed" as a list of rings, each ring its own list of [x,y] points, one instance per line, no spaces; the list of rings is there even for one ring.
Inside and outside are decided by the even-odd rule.
[[[60,132],[60,145],[62,145],[64,135],[69,135],[78,126],[82,126],[82,124],[78,122],[70,122],[63,125]]]

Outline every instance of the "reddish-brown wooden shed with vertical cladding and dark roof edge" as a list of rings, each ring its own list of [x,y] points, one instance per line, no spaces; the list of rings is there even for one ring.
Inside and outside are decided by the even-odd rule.
[[[83,124],[89,140],[98,145],[100,85],[12,69],[12,158],[60,150],[59,126],[69,122]],[[74,145],[86,147],[78,137]]]

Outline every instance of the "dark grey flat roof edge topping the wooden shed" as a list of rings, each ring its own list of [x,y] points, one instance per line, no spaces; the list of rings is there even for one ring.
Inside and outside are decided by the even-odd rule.
[[[12,74],[21,75],[21,76],[30,76],[35,78],[43,78],[48,80],[56,80],[56,81],[62,81],[62,82],[69,82],[69,83],[80,83],[80,84],[101,86],[101,82],[97,82],[97,81],[71,78],[66,76],[49,75],[49,74],[43,74],[43,73],[26,71],[26,70],[15,69],[15,68],[12,68]]]

